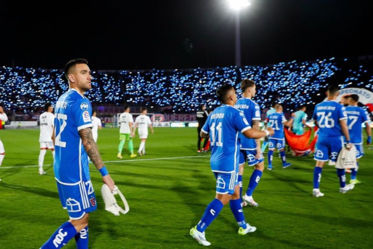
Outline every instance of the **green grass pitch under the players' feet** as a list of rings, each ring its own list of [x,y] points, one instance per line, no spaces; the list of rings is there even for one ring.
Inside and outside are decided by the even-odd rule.
[[[115,217],[104,210],[99,172],[91,164],[98,210],[90,216],[90,248],[201,248],[189,229],[197,224],[215,196],[209,156],[196,153],[196,128],[155,128],[146,144],[147,155],[117,159],[119,130],[99,131],[98,146],[107,168],[128,200],[130,211]],[[1,130],[6,157],[0,168],[0,248],[38,249],[68,219],[57,193],[53,167],[38,175],[38,130]],[[134,140],[135,149],[139,140]],[[125,144],[127,152],[127,144]],[[373,248],[373,150],[365,146],[358,184],[338,192],[333,166],[323,170],[313,198],[311,156],[288,156],[282,169],[274,156],[273,171],[264,171],[254,198],[257,208],[245,207],[246,221],[257,231],[237,234],[229,206],[206,230],[211,248]],[[277,153],[275,153],[277,155]],[[148,160],[154,159],[154,160]],[[51,164],[51,153],[45,164]],[[28,166],[28,167],[25,167]],[[245,168],[244,188],[252,167]],[[347,175],[347,180],[350,175]],[[65,246],[76,248],[72,240]]]

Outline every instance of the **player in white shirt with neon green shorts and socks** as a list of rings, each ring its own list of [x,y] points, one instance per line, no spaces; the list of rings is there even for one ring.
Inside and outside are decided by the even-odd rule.
[[[119,115],[119,124],[120,124],[120,130],[119,130],[119,146],[118,146],[118,155],[117,158],[123,158],[122,157],[122,150],[123,146],[128,141],[128,150],[129,153],[131,153],[131,158],[134,158],[136,154],[134,154],[134,143],[132,141],[132,123],[134,122],[134,118],[132,117],[132,114],[129,113],[130,108],[129,106],[124,106],[124,112]]]

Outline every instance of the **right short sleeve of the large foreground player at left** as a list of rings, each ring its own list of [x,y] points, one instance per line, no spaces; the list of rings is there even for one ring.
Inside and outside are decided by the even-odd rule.
[[[88,99],[79,99],[73,105],[73,116],[75,118],[78,131],[92,127],[92,107]]]

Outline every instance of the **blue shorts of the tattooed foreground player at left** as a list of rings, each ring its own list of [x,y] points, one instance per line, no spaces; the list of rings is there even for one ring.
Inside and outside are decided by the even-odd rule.
[[[70,219],[80,220],[86,213],[97,209],[91,180],[76,185],[65,185],[57,181],[57,189],[62,208],[67,209]]]

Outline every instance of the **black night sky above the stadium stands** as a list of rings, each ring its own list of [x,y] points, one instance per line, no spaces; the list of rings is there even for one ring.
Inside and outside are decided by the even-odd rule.
[[[0,7],[0,66],[61,69],[76,57],[95,70],[235,63],[225,0],[12,2]],[[242,65],[372,55],[372,2],[252,0],[241,12]]]

